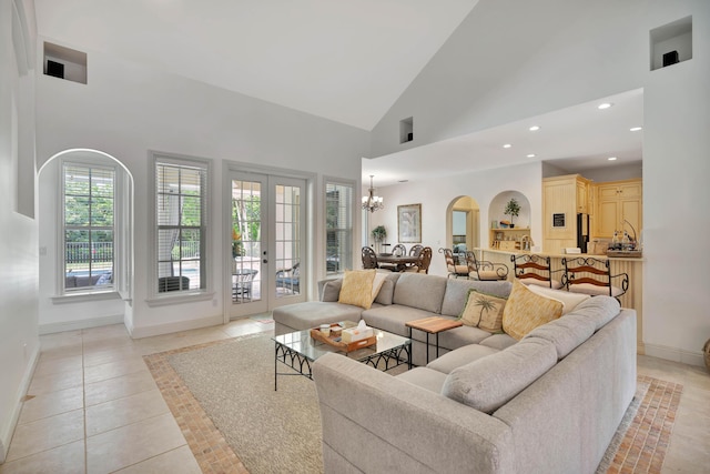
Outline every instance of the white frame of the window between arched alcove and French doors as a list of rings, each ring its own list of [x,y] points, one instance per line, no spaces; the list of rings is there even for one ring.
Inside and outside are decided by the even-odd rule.
[[[173,153],[150,152],[150,172],[149,172],[149,195],[151,196],[151,204],[149,206],[149,219],[151,225],[149,228],[149,269],[148,269],[148,299],[146,302],[150,306],[160,306],[166,304],[181,304],[192,301],[206,301],[212,300],[214,296],[213,283],[212,283],[212,229],[210,226],[210,216],[212,215],[212,160],[184,157]],[[202,210],[202,225],[201,238],[203,240],[204,254],[202,264],[200,268],[200,278],[204,281],[204,288],[191,289],[184,291],[158,291],[158,189],[155,184],[155,172],[159,163],[172,164],[175,167],[185,168],[199,168],[206,172],[205,189],[203,195],[203,210]]]

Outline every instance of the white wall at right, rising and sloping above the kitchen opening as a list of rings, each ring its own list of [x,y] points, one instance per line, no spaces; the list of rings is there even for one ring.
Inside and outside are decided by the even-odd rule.
[[[650,30],[688,16],[693,58],[650,71]],[[690,242],[710,232],[709,30],[707,0],[481,0],[375,128],[371,157],[643,88],[643,342],[701,364],[710,256]]]

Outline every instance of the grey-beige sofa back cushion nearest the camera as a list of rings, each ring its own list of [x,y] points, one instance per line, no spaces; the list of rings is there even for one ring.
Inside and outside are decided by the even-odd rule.
[[[453,370],[442,387],[442,395],[490,414],[556,363],[557,351],[551,342],[529,337]]]

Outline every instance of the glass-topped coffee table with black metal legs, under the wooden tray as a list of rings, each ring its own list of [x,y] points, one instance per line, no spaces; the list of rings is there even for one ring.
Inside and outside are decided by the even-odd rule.
[[[345,327],[356,325],[349,321],[341,324]],[[303,375],[313,379],[311,364],[328,353],[343,354],[382,371],[388,371],[402,364],[407,364],[408,369],[412,369],[410,339],[374,327],[373,331],[377,337],[377,344],[351,352],[341,351],[338,347],[311,337],[311,330],[272,337],[275,343],[274,390],[278,387],[280,375]],[[280,362],[295,372],[278,372]]]

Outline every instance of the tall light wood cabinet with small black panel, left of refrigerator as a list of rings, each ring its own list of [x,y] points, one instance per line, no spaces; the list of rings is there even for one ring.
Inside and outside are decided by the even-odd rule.
[[[577,214],[590,214],[591,181],[580,174],[542,180],[542,251],[562,253],[577,246]]]

